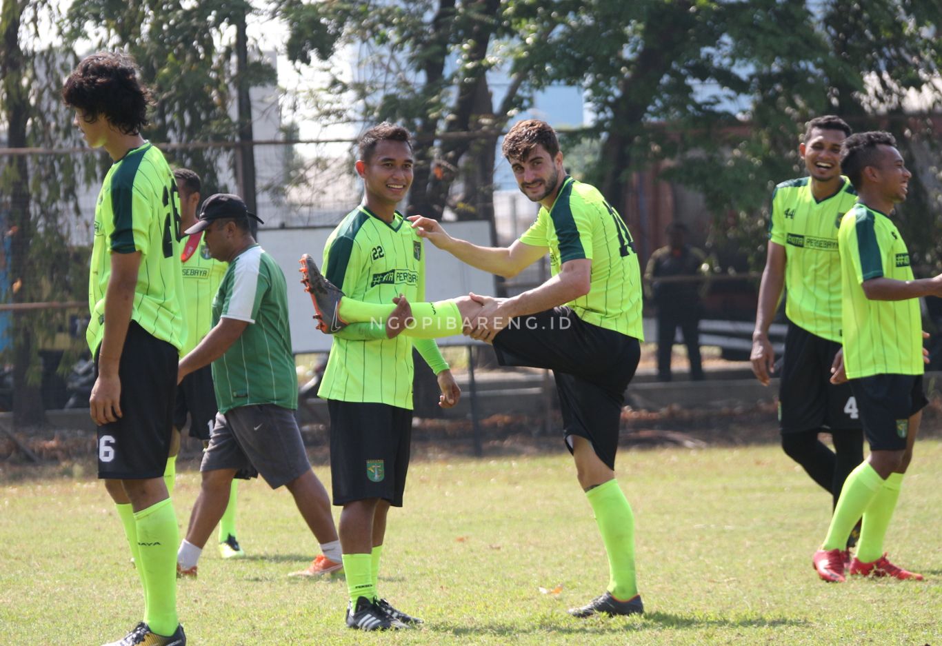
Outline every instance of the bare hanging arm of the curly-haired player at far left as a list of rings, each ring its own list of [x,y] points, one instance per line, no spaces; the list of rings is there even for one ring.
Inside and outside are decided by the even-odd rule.
[[[131,324],[139,268],[140,251],[111,253],[111,275],[105,294],[105,335],[98,348],[98,378],[89,396],[89,414],[99,426],[122,416],[118,366]]]

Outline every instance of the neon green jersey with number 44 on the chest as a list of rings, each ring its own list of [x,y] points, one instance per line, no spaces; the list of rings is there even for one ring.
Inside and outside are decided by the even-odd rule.
[[[840,342],[840,256],[837,227],[857,191],[846,177],[820,202],[809,178],[789,180],[771,194],[769,239],[785,247],[785,313],[804,330]]]

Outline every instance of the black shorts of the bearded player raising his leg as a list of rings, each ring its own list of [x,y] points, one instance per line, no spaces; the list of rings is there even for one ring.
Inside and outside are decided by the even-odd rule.
[[[562,431],[589,440],[595,454],[615,468],[625,388],[641,358],[638,339],[580,319],[568,307],[514,318],[494,337],[501,365],[553,371],[560,393]]]

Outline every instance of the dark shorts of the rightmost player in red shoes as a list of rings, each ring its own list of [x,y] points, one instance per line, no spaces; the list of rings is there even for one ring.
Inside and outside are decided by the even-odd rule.
[[[929,403],[922,375],[873,375],[850,383],[870,450],[905,449],[909,418]]]

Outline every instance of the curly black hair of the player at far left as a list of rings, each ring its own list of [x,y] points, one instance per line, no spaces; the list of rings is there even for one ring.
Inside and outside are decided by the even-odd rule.
[[[89,123],[99,117],[125,135],[147,125],[151,90],[141,82],[134,59],[118,52],[98,52],[82,59],[62,87],[66,105],[81,110]]]

